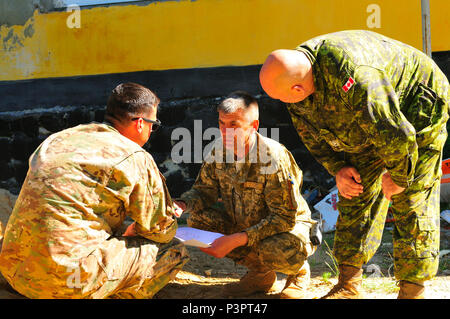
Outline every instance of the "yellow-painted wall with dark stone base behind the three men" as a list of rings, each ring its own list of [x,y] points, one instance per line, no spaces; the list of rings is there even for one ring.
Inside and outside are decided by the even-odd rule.
[[[71,13],[54,10],[58,3],[0,0],[0,188],[15,194],[34,149],[51,133],[101,121],[110,90],[126,81],[163,101],[165,127],[149,151],[174,196],[192,184],[200,164],[171,163],[172,131],[193,130],[194,120],[203,130],[216,126],[214,106],[237,89],[259,96],[261,127],[280,130],[306,186],[326,187],[332,179],[302,145],[285,107],[263,94],[259,64],[273,49],[342,29],[372,29],[422,47],[420,1],[378,1],[382,22],[375,28],[367,23],[370,0],[142,1],[83,7],[80,28],[68,26]],[[448,6],[432,3],[435,51],[449,50]],[[449,52],[435,55],[447,76]]]

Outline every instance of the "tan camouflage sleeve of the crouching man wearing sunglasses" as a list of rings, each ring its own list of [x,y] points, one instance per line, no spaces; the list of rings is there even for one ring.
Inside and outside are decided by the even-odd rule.
[[[138,235],[160,243],[173,239],[177,222],[172,199],[150,154],[136,152],[116,165],[109,184],[121,195]]]

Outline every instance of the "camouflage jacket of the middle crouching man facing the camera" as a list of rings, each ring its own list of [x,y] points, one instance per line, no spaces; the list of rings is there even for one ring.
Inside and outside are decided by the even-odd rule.
[[[218,147],[205,158],[195,184],[181,199],[188,211],[197,212],[220,197],[236,229],[247,232],[249,246],[282,232],[309,243],[315,222],[300,194],[302,172],[283,145],[255,134],[256,143],[241,169],[226,160],[218,139]]]

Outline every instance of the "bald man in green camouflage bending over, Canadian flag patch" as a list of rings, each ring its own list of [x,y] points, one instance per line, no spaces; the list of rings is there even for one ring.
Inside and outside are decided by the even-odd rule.
[[[398,298],[422,298],[439,256],[439,187],[449,83],[422,52],[369,31],[326,34],[272,52],[260,71],[287,103],[314,157],[336,177],[339,282],[325,298],[358,298],[389,201]]]

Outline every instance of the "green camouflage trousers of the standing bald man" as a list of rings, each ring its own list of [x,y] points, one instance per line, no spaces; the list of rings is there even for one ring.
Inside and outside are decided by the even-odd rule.
[[[339,264],[361,267],[373,257],[383,234],[389,207],[381,190],[385,167],[372,151],[345,156],[360,173],[364,192],[351,200],[339,195],[334,255]],[[419,148],[414,182],[404,192],[392,196],[397,280],[423,283],[436,275],[441,162],[442,148]]]

